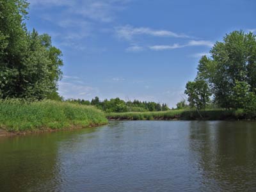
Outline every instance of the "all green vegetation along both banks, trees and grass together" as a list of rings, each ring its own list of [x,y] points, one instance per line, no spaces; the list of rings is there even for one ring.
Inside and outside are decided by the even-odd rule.
[[[223,42],[216,42],[211,57],[201,58],[195,81],[186,84],[191,109],[186,100],[178,102],[175,110],[166,104],[125,102],[119,98],[64,102],[57,92],[62,53],[52,45],[51,36],[40,35],[35,29],[28,31],[24,22],[28,19],[28,5],[26,0],[0,1],[0,127],[7,131],[106,124],[99,109],[108,113],[110,119],[127,120],[256,117],[253,33],[234,31]]]

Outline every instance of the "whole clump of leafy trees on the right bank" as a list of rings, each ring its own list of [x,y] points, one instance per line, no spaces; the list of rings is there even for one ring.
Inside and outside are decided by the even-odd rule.
[[[195,81],[186,84],[189,106],[198,111],[213,103],[256,116],[256,36],[233,31],[203,56]]]

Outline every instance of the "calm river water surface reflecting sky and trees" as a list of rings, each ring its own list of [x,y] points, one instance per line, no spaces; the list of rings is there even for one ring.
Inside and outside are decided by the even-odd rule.
[[[111,122],[0,138],[0,191],[255,191],[255,122]]]

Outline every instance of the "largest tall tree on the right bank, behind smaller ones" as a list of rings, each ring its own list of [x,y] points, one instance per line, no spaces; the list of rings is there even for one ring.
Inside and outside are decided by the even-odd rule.
[[[236,82],[248,83],[253,92],[256,88],[256,36],[233,31],[223,42],[216,42],[210,53],[211,58],[203,56],[199,61],[196,79],[207,82],[221,107],[239,107],[235,103],[239,101],[231,98]]]

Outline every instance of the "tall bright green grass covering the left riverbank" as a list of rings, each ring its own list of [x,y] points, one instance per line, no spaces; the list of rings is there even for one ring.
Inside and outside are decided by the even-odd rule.
[[[6,131],[38,131],[107,124],[105,114],[92,106],[43,100],[0,100],[0,127]]]

